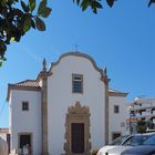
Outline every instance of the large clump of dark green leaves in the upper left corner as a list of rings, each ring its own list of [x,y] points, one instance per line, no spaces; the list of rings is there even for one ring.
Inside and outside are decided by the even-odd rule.
[[[42,0],[38,8],[35,6],[35,0],[0,0],[0,66],[6,61],[7,45],[12,41],[20,42],[31,28],[45,30],[42,18],[48,18],[52,10],[46,0]],[[37,14],[33,14],[34,10]]]

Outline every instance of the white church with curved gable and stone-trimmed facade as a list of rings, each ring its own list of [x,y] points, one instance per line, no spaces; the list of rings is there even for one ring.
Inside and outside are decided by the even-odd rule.
[[[62,54],[35,80],[8,85],[11,152],[90,155],[126,133],[127,93],[111,90],[106,68],[87,54]]]

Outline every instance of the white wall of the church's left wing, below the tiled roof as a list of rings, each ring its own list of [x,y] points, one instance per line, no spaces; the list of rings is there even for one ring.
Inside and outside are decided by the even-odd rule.
[[[41,93],[11,91],[11,149],[18,148],[18,134],[32,133],[34,155],[41,153]],[[29,111],[22,111],[22,101],[29,102]]]

